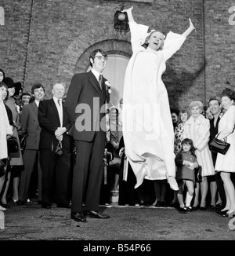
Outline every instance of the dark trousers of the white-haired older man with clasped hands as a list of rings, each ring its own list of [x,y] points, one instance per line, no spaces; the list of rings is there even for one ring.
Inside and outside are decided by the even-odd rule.
[[[71,154],[63,150],[63,156],[58,157],[50,149],[40,150],[42,168],[42,202],[68,204],[69,182],[71,174]],[[55,191],[54,191],[55,189]]]

